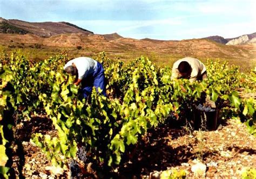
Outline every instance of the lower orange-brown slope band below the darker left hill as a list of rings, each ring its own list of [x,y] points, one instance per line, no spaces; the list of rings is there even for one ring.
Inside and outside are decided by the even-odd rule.
[[[111,36],[112,37],[112,36]],[[107,40],[104,35],[83,35],[82,33],[59,34],[49,38],[34,34],[1,34],[0,45],[30,46],[42,44],[49,47],[77,47],[93,49],[95,52],[114,53],[138,52],[157,53],[161,55],[193,56],[196,58],[250,59],[256,56],[254,46],[227,46],[208,39],[191,39],[181,41],[148,41],[131,38]]]

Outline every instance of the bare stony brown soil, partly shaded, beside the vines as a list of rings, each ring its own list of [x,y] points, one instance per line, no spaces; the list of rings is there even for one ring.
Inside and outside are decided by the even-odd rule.
[[[31,131],[33,128],[38,130],[33,126]],[[206,173],[200,178],[241,178],[242,168],[256,168],[255,141],[238,120],[228,120],[216,131],[189,131],[166,124],[150,130],[113,177],[152,178],[156,176],[152,174],[175,168],[187,170],[187,177],[194,178],[191,168],[201,162],[206,166]],[[53,168],[41,149],[29,141],[22,145],[25,154],[22,174],[25,178],[68,177],[68,169],[58,171]],[[18,175],[17,156],[14,156],[14,161]]]

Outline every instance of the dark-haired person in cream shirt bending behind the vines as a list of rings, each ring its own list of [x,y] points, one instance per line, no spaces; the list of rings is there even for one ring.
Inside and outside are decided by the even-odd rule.
[[[190,82],[201,81],[207,78],[206,67],[204,63],[198,59],[186,57],[174,62],[172,67],[171,79],[186,78]],[[206,97],[206,105],[210,105],[212,108],[216,108],[210,97]]]

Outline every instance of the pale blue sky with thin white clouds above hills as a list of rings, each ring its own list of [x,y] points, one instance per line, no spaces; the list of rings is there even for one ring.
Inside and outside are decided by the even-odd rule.
[[[181,40],[256,32],[256,0],[0,0],[0,17],[69,22],[96,34]]]

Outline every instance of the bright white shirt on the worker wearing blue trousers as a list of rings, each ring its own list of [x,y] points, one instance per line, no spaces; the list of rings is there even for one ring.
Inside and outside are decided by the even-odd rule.
[[[95,72],[98,62],[89,57],[82,56],[68,61],[64,66],[64,70],[66,67],[72,66],[72,63],[74,63],[77,68],[78,79],[83,79]]]

